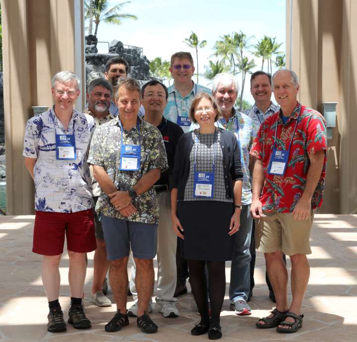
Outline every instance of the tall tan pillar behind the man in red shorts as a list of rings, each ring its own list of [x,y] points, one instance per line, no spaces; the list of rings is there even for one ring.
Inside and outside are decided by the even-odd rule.
[[[60,70],[84,73],[82,0],[2,0],[2,49],[7,212],[34,211],[33,181],[23,162],[31,106],[51,106],[51,79]],[[85,94],[76,108],[84,106]]]

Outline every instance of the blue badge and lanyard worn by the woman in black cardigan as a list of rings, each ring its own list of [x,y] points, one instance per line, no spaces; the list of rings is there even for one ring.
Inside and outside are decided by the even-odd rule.
[[[216,132],[213,139],[213,167],[212,172],[197,171],[197,150],[198,150],[198,136],[196,137],[196,148],[194,157],[194,181],[193,181],[193,197],[194,198],[213,198],[214,188],[214,172],[215,172],[215,158],[216,158]]]

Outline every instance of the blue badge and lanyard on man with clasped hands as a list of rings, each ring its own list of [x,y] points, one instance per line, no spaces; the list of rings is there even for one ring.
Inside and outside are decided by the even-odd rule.
[[[120,142],[120,171],[138,171],[140,170],[141,159],[141,139],[140,139],[140,125],[137,122],[136,129],[139,133],[139,145],[123,144],[123,128],[119,120],[119,126],[121,131]]]

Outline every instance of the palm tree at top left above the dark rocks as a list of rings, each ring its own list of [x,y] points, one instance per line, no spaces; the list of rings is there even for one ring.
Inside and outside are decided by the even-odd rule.
[[[121,7],[125,3],[129,3],[130,1],[120,2],[111,9],[107,10],[109,5],[109,0],[84,0],[84,18],[90,19],[91,14],[90,10],[92,8],[93,15],[92,18],[95,22],[95,31],[94,34],[97,35],[98,26],[101,21],[104,21],[107,24],[116,24],[120,25],[122,19],[133,19],[136,20],[137,16],[134,14],[120,13]],[[89,34],[92,34],[92,31],[89,27]]]

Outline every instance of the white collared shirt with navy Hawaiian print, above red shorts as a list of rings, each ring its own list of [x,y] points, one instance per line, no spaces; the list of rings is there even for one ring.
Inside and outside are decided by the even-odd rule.
[[[37,158],[34,166],[36,210],[68,213],[93,206],[86,159],[94,127],[92,117],[75,110],[67,131],[53,109],[28,120],[23,156]],[[75,160],[56,159],[56,132],[74,134]]]

